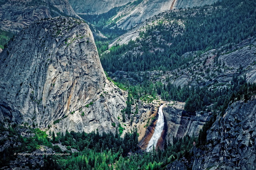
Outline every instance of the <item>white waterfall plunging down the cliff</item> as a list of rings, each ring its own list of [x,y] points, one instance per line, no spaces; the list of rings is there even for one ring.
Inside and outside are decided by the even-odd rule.
[[[156,147],[157,141],[161,137],[162,131],[164,129],[164,114],[163,114],[163,111],[162,111],[162,107],[163,107],[163,105],[161,105],[159,107],[158,120],[156,122],[155,132],[154,132],[152,138],[150,139],[150,141],[148,142],[148,147],[146,148],[147,152],[152,150],[153,146]]]

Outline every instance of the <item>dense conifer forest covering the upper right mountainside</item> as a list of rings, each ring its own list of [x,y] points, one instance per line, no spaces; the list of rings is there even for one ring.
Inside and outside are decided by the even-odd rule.
[[[204,8],[165,12],[160,14],[161,22],[141,32],[140,39],[116,45],[103,54],[102,66],[107,72],[173,70],[192,60],[182,56],[186,52],[204,52],[227,44],[232,46],[232,43],[255,36],[255,9],[254,0],[222,0]],[[178,22],[165,22],[174,19],[184,21],[185,27],[180,28]],[[173,36],[174,28],[178,28],[180,34]],[[161,40],[157,40],[156,31]],[[154,50],[156,48],[163,50]],[[134,50],[140,52],[133,54]]]

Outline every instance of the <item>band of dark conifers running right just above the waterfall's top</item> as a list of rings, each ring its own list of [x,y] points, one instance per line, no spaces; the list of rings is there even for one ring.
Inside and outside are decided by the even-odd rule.
[[[193,114],[196,111],[224,112],[230,102],[241,99],[247,101],[252,95],[255,95],[256,84],[246,83],[246,76],[244,75],[243,77],[233,76],[231,84],[221,88],[212,89],[208,86],[200,88],[189,85],[181,88],[170,82],[164,85],[161,82],[144,81],[137,86],[130,86],[128,90],[128,106],[134,104],[134,101],[138,99],[150,102],[159,95],[163,100],[186,102],[184,109]],[[129,99],[129,94],[131,94],[132,100]],[[151,98],[145,98],[147,95],[150,95]],[[127,108],[130,110],[130,107]]]

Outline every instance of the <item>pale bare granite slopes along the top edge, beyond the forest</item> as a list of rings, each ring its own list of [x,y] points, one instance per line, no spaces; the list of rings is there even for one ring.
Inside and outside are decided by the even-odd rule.
[[[178,9],[192,8],[194,6],[204,6],[213,4],[218,0],[129,0],[129,1],[85,1],[69,0],[71,6],[77,14],[102,14],[114,7],[125,6],[120,8],[118,14],[112,18],[118,28],[128,30],[134,28],[149,18],[160,14],[161,12]],[[133,3],[128,3],[133,2]]]

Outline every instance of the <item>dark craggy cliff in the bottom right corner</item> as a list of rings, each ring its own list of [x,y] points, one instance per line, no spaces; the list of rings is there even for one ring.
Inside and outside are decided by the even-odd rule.
[[[194,149],[193,170],[256,168],[256,100],[232,104],[208,130],[205,150]],[[207,148],[207,149],[206,149]],[[198,152],[199,151],[199,152]],[[199,156],[201,154],[201,156]]]

